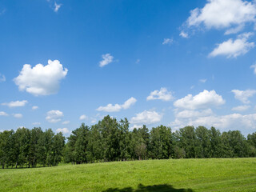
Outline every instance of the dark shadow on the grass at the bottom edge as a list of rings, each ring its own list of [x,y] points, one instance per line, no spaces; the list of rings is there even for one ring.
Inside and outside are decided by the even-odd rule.
[[[138,185],[138,188],[134,190],[131,187],[126,187],[123,189],[110,188],[103,190],[102,192],[193,192],[191,189],[174,189],[170,185],[157,185],[157,186],[143,186],[142,184]]]

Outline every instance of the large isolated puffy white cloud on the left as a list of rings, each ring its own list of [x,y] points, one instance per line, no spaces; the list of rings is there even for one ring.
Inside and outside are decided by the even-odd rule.
[[[46,66],[38,64],[31,67],[25,64],[18,77],[14,78],[14,82],[19,90],[26,90],[36,96],[56,94],[59,83],[66,77],[67,71],[58,60],[48,60]]]

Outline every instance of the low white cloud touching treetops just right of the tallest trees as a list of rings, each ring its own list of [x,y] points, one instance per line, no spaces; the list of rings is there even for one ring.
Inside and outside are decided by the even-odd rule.
[[[144,110],[142,113],[136,114],[135,117],[130,119],[132,124],[154,124],[160,122],[162,119],[162,114],[158,114],[156,111]]]

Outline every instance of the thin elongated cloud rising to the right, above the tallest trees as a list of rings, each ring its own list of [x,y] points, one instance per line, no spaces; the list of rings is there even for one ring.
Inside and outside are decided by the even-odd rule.
[[[136,98],[129,98],[126,102],[124,102],[122,105],[119,104],[108,104],[106,106],[100,106],[98,107],[98,111],[105,111],[105,112],[118,112],[120,110],[126,110],[130,108],[130,106],[134,105],[134,103],[137,102]]]

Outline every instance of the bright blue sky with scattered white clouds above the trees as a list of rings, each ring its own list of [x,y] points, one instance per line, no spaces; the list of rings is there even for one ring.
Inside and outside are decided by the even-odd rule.
[[[254,1],[3,0],[0,29],[0,130],[256,130]]]

